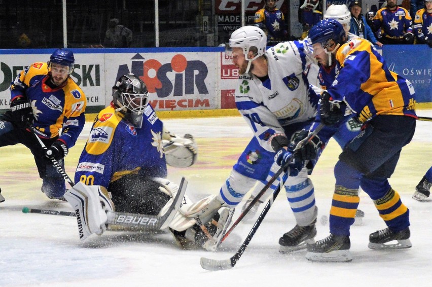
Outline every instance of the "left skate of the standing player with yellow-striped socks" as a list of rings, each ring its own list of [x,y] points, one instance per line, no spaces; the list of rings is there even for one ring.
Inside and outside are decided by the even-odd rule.
[[[330,234],[314,244],[307,245],[306,259],[320,262],[350,262],[350,247],[349,236]]]

